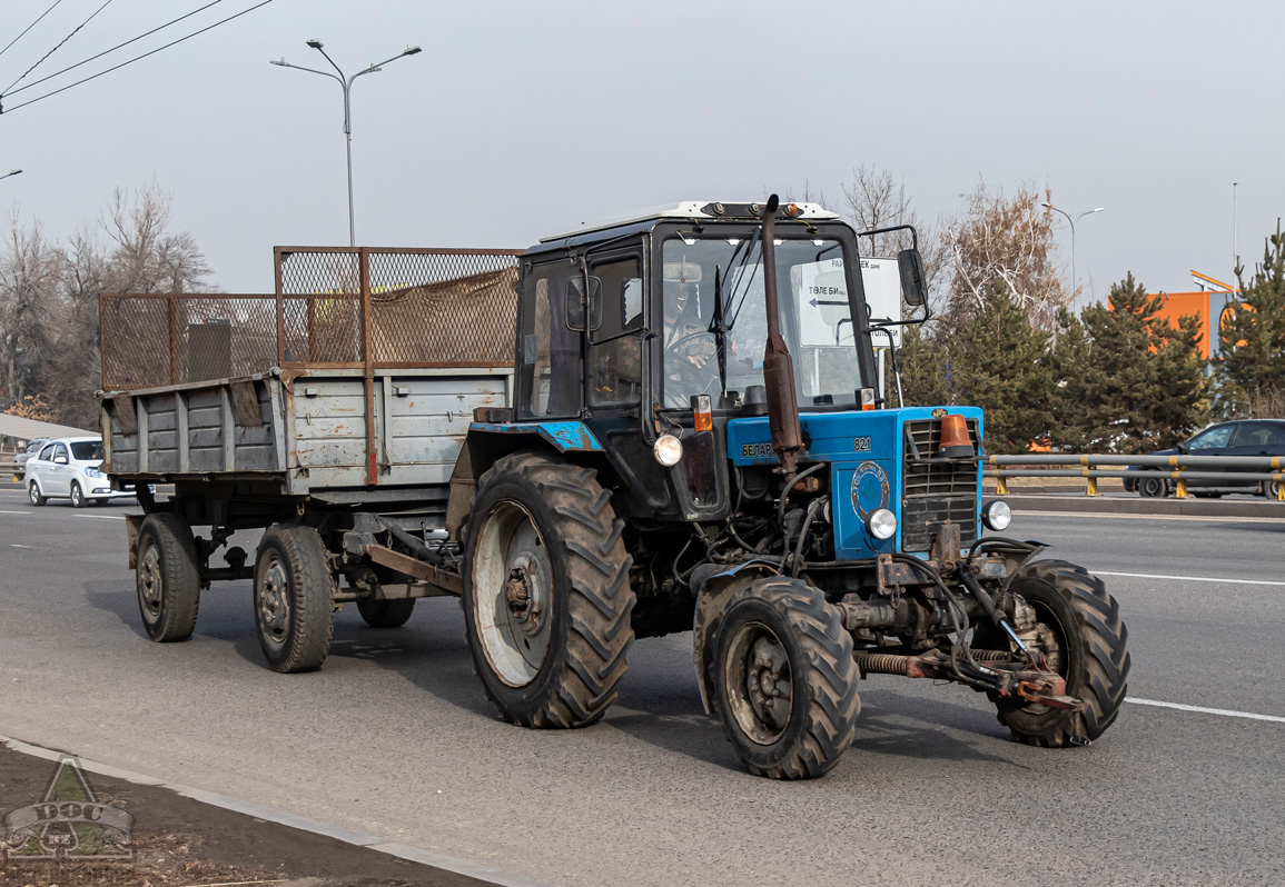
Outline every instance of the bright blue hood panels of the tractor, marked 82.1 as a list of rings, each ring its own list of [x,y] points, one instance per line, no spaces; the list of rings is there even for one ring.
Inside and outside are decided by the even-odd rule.
[[[835,558],[855,560],[893,552],[926,553],[914,546],[902,546],[903,483],[906,465],[906,422],[934,421],[934,407],[905,409],[869,409],[826,413],[801,413],[806,448],[799,456],[801,467],[810,462],[829,462],[831,510],[834,513]],[[982,409],[951,407],[950,412],[975,420],[977,438],[982,438]],[[939,413],[938,413],[939,415]],[[727,422],[727,457],[738,466],[770,466],[776,463],[767,417],[734,418]],[[977,490],[980,492],[982,465],[975,469]],[[980,495],[975,499],[973,519],[978,519]],[[891,539],[875,539],[866,530],[866,516],[876,508],[889,508],[897,515],[897,533]]]

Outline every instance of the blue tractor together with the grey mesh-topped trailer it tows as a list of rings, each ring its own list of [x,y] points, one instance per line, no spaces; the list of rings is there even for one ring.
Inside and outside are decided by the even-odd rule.
[[[898,323],[921,322],[894,230]],[[252,579],[269,664],[305,671],[335,607],[396,626],[456,594],[522,727],[596,723],[635,639],[684,632],[759,775],[833,768],[870,675],[983,692],[1019,742],[1097,739],[1127,691],[1119,605],[1001,535],[982,409],[882,397],[878,234],[775,195],[684,202],[520,254],[278,249],[271,297],[104,297],[107,470],[143,504],[149,637]],[[263,529],[253,558],[240,529]]]

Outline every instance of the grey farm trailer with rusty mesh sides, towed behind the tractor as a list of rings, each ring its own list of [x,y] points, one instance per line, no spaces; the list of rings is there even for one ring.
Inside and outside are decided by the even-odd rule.
[[[102,298],[104,467],[144,508],[126,522],[153,641],[190,637],[212,581],[254,579],[265,656],[303,671],[333,608],[386,628],[460,593],[451,474],[474,413],[511,400],[517,255],[280,248],[272,295]],[[212,561],[248,529],[256,557]]]

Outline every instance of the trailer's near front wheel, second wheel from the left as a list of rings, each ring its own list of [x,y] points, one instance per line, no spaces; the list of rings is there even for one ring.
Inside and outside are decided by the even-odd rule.
[[[321,535],[299,524],[267,528],[254,561],[254,621],[272,670],[321,667],[334,632],[333,598]]]

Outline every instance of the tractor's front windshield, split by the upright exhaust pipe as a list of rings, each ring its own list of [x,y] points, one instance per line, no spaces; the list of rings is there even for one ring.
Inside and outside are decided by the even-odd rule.
[[[763,384],[767,313],[757,237],[682,234],[663,245],[664,404],[718,402]],[[799,407],[853,404],[861,379],[848,272],[839,240],[776,241],[781,334],[794,358]]]

